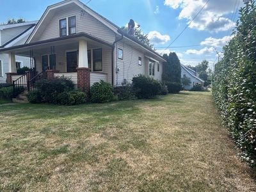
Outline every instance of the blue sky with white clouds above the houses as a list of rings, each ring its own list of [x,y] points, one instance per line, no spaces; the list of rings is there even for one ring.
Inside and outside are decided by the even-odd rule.
[[[58,0],[1,0],[0,23],[8,18],[38,20],[47,6]],[[82,0],[87,3],[88,0]],[[92,0],[88,6],[118,26],[134,19],[144,33],[163,52],[186,27],[207,0]],[[181,63],[196,65],[206,59],[216,61],[216,51],[231,38],[237,7],[243,0],[210,0],[188,29],[164,52],[177,52]],[[234,12],[235,10],[235,12]],[[234,12],[234,13],[233,13]],[[235,16],[236,15],[236,16]],[[199,45],[193,47],[182,47]]]

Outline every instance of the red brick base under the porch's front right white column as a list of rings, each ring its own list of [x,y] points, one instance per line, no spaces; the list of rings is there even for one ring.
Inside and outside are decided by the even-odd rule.
[[[78,67],[77,70],[77,88],[90,93],[90,68]]]

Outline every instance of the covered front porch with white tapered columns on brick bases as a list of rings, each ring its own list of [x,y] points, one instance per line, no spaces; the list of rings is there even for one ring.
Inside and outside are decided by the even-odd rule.
[[[18,45],[1,52],[9,54],[6,81],[12,83],[20,78],[14,65],[15,55],[33,58],[36,75],[48,79],[65,76],[83,90],[100,80],[113,83],[113,45],[86,33]],[[22,82],[29,80],[31,77],[27,75]]]

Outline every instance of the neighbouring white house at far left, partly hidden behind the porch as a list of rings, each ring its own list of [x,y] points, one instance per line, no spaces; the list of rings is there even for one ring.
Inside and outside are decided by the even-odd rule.
[[[33,31],[36,21],[22,22],[20,24],[0,25],[0,50],[13,45],[24,44]],[[15,57],[16,68],[30,67],[30,58]],[[9,72],[9,56],[0,52],[0,83],[6,82],[6,73]]]

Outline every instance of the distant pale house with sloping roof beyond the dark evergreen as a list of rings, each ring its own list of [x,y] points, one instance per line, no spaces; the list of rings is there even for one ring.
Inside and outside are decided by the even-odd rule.
[[[191,81],[189,85],[186,85],[184,87],[185,90],[191,90],[193,86],[195,86],[196,84],[204,86],[204,81],[196,76],[195,70],[192,70],[189,67],[181,65],[181,78],[183,77],[188,77]]]

